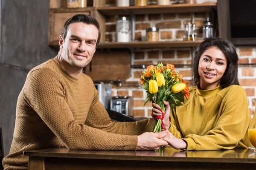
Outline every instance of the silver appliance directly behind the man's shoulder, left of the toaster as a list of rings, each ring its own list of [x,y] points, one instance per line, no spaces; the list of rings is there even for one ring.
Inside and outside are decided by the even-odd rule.
[[[109,101],[112,94],[112,85],[104,83],[94,83],[95,88],[99,92],[99,101],[105,108],[109,108]]]

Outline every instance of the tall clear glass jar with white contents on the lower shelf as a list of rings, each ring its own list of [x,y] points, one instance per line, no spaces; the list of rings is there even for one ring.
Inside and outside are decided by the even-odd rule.
[[[118,17],[116,21],[116,40],[117,42],[129,42],[130,41],[130,18]]]

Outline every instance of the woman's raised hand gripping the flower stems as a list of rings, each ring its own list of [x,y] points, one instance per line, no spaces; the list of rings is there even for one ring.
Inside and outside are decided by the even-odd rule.
[[[152,97],[152,100],[154,99],[154,97]],[[170,128],[170,110],[171,107],[169,105],[169,102],[163,101],[163,104],[166,105],[166,112],[165,115],[163,117],[163,124],[164,127],[166,128],[166,130],[168,130]],[[152,113],[151,116],[153,117],[153,119],[155,119],[156,116],[163,116],[162,112],[160,111],[161,107],[159,105],[157,105],[156,103],[152,102]]]

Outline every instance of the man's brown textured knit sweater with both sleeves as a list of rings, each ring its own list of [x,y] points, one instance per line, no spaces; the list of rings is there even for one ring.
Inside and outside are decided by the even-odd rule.
[[[27,169],[24,150],[135,150],[137,135],[154,120],[111,122],[92,79],[71,77],[53,59],[33,68],[17,101],[11,150],[5,170]]]

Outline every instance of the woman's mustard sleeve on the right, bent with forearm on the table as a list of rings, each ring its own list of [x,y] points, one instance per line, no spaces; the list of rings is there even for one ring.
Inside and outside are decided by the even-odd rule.
[[[226,95],[222,100],[222,113],[215,127],[204,136],[185,136],[184,140],[188,144],[186,150],[233,149],[243,139],[250,123],[245,91],[241,86],[236,86]]]

